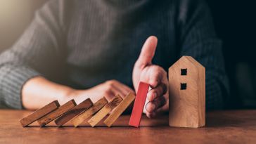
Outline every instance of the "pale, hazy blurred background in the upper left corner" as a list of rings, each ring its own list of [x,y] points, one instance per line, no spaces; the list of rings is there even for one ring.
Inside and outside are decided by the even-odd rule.
[[[0,52],[10,48],[46,0],[0,0]]]

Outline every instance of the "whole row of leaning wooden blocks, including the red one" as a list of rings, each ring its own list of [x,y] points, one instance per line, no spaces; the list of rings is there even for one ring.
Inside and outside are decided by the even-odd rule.
[[[37,121],[40,126],[46,126],[46,124],[55,120],[54,122],[57,126],[63,126],[63,124],[67,122],[72,122],[72,124],[77,127],[91,117],[87,122],[94,127],[115,108],[104,121],[104,124],[110,127],[136,98],[129,125],[138,127],[148,88],[148,84],[141,82],[137,96],[134,96],[133,93],[129,93],[122,99],[120,95],[117,95],[110,100],[110,102],[108,102],[105,97],[101,98],[96,103],[92,103],[91,99],[87,98],[82,103],[79,103],[79,105],[75,103],[75,100],[70,100],[60,106],[58,100],[55,100],[32,114],[29,114],[27,117],[20,119],[20,124],[25,127]]]

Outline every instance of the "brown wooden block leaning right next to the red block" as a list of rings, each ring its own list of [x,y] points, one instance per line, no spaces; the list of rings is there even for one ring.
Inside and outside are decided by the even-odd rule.
[[[105,119],[104,123],[110,127],[117,119],[120,117],[122,112],[129,107],[129,105],[134,101],[135,96],[133,93],[129,93],[122,102],[115,107],[115,110]]]

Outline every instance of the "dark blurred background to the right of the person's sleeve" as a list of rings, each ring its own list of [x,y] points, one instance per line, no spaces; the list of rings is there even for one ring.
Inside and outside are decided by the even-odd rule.
[[[223,41],[231,96],[227,108],[256,108],[256,8],[254,1],[207,0]]]

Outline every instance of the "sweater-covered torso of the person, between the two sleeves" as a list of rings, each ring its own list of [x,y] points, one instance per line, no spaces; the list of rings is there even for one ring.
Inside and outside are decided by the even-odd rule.
[[[169,1],[75,1],[68,11],[68,83],[86,89],[110,79],[132,86],[144,41],[158,37],[153,64],[167,70],[177,57]]]

